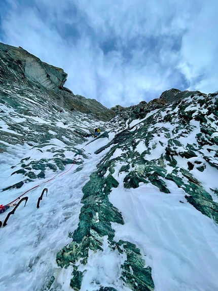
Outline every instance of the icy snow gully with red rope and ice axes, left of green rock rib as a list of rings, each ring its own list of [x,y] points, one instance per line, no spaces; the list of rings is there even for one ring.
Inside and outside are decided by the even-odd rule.
[[[103,146],[108,139],[99,139],[99,141]],[[15,215],[10,216],[8,225],[1,229],[0,249],[3,260],[0,265],[0,288],[2,290],[38,290],[39,286],[52,275],[59,281],[64,278],[62,290],[71,290],[69,283],[72,270],[60,270],[55,261],[56,254],[71,242],[71,239],[67,238],[68,232],[74,232],[77,228],[82,207],[80,203],[83,197],[82,187],[88,182],[91,173],[96,170],[99,158],[105,154],[105,151],[110,150],[108,148],[95,155],[94,151],[99,148],[96,141],[87,146],[84,143],[78,148],[85,148],[87,152],[92,153],[89,159],[84,161],[83,171],[76,172],[78,166],[75,164],[66,174],[59,175],[54,180],[28,192],[25,195],[29,197],[26,206],[23,207],[24,204],[21,204]],[[40,182],[46,180],[48,178],[41,179]],[[7,191],[7,194],[3,192],[1,204],[10,202],[11,199],[17,198],[25,190],[37,184],[39,180],[32,182],[31,186],[24,184],[22,190],[13,189]],[[48,196],[44,195],[40,208],[37,209],[37,201],[44,187],[48,188]],[[7,214],[8,212],[1,214],[2,221]]]

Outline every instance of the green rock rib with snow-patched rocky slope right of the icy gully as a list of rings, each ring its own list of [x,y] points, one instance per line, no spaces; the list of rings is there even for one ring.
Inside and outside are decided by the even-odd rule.
[[[83,187],[73,240],[57,254],[73,268],[71,287],[217,289],[217,105],[192,95],[130,119],[95,151],[109,149]],[[118,258],[108,274],[109,250]]]

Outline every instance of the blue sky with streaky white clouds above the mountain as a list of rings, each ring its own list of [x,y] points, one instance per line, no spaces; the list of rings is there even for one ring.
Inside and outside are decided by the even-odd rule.
[[[217,0],[0,0],[0,42],[110,108],[170,88],[218,90]]]

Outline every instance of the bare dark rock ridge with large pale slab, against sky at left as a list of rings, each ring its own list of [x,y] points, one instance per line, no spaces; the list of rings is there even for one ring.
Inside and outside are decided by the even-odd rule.
[[[50,101],[55,103],[55,106],[61,107],[60,110],[94,114],[95,118],[103,121],[110,120],[116,115],[96,100],[75,95],[63,87],[66,78],[67,74],[62,69],[41,61],[23,48],[0,43],[1,96],[10,95],[8,93],[10,88],[22,86],[22,91],[19,89],[19,93],[30,96],[33,101],[36,98],[35,92],[42,94],[42,98],[37,99],[37,102],[43,105]]]

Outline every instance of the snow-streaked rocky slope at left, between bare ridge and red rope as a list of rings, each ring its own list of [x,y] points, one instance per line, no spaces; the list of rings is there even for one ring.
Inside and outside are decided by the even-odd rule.
[[[64,110],[40,89],[26,86],[10,89],[11,83],[8,87],[0,86],[0,171],[3,173],[0,189],[3,191],[63,170],[79,152],[75,146],[93,136],[95,127],[102,130],[104,124],[92,114]]]

